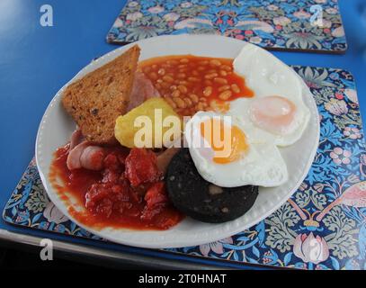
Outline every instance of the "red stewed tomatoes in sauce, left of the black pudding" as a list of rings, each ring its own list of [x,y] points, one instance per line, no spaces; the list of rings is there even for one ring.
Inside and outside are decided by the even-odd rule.
[[[70,171],[67,168],[68,148],[67,144],[55,152],[49,180],[59,197],[70,207],[70,215],[85,226],[94,229],[169,229],[183,220],[183,214],[169,202],[165,183],[158,172],[151,165],[143,174],[138,174],[138,167],[134,169],[136,163],[146,171],[148,163],[143,160],[146,154],[138,154],[142,152],[137,151],[128,164],[129,149],[108,148],[103,170],[80,168]],[[129,175],[125,175],[125,166],[132,171]],[[133,179],[132,182],[138,179],[135,183],[138,185],[132,186],[129,179]],[[71,199],[85,209],[76,211]]]

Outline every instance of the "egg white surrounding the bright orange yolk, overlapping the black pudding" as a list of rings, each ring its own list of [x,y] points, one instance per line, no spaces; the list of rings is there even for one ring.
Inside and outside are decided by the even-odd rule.
[[[200,175],[208,182],[221,187],[237,187],[247,184],[263,187],[278,186],[288,180],[287,166],[279,149],[269,142],[255,143],[246,139],[248,145],[243,157],[228,164],[218,164],[212,160],[212,154],[193,145],[192,135],[200,130],[202,117],[219,116],[216,112],[197,112],[185,125],[184,135],[194,165]],[[221,115],[222,116],[222,115]],[[232,118],[236,125],[246,135],[245,128],[237,118]],[[210,148],[209,148],[210,149]]]

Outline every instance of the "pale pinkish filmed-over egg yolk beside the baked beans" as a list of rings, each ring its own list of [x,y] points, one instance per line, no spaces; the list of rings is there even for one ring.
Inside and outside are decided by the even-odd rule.
[[[250,118],[259,128],[278,135],[294,130],[296,105],[281,96],[256,99],[250,107]]]

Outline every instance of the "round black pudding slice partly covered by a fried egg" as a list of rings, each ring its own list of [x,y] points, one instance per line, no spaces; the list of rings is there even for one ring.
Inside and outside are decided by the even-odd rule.
[[[258,186],[219,187],[204,180],[194,166],[188,148],[170,162],[166,188],[176,209],[195,220],[221,223],[235,220],[254,204]]]

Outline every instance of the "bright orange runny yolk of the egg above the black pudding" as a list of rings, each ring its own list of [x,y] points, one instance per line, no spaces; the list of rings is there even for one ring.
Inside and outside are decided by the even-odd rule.
[[[202,121],[201,136],[214,151],[213,161],[218,164],[238,160],[248,148],[243,131],[235,125],[225,125],[219,119]]]

